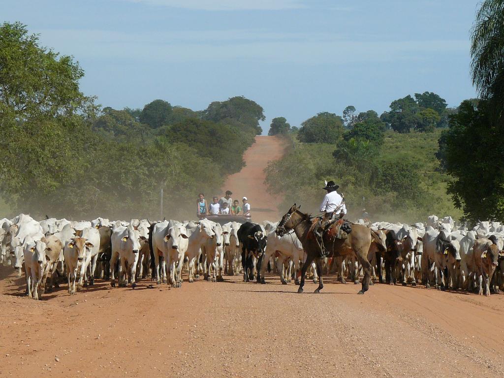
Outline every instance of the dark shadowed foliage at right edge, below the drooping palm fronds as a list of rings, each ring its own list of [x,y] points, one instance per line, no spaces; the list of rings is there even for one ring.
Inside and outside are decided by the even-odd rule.
[[[504,125],[492,118],[486,100],[463,101],[439,138],[438,158],[456,177],[449,186],[455,204],[470,220],[504,220],[504,163],[499,143]],[[492,107],[493,108],[493,107]]]

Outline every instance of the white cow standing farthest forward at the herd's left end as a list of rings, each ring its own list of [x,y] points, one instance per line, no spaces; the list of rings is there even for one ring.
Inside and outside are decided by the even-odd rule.
[[[43,241],[32,239],[25,241],[26,291],[28,292],[28,296],[33,299],[39,299],[38,287],[42,282],[47,264],[45,249],[46,244]]]

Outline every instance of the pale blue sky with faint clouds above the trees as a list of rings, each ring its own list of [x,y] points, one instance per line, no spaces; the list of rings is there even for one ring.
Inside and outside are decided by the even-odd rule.
[[[103,106],[160,98],[201,110],[243,95],[291,125],[347,105],[379,114],[432,91],[475,97],[476,0],[86,0],[0,3],[42,45],[71,54]]]

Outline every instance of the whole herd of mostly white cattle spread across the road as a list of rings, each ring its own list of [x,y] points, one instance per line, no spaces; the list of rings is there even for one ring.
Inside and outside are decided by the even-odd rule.
[[[365,224],[363,220],[357,223]],[[298,283],[299,267],[306,258],[294,233],[278,236],[277,223],[197,222],[164,220],[130,222],[97,218],[74,222],[66,219],[36,221],[26,214],[0,220],[0,263],[24,271],[26,293],[39,299],[66,277],[70,294],[76,286],[93,285],[95,278],[115,286],[136,287],[150,276],[157,283],[182,284],[204,275],[221,281],[223,274],[243,273],[248,282],[265,283],[265,270],[276,270],[282,284]],[[478,222],[472,229],[455,225],[451,217],[430,216],[427,223],[366,224],[379,236],[371,244],[368,260],[372,278],[379,282],[440,289],[465,289],[490,295],[504,289],[504,225]],[[360,267],[348,256],[324,260],[324,269],[359,282]],[[317,282],[312,264],[311,274]]]

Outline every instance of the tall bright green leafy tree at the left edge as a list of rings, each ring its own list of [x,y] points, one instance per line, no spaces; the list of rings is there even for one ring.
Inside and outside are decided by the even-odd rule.
[[[21,23],[0,27],[0,175],[3,197],[23,209],[72,183],[93,136],[94,98],[79,90],[73,57],[38,43]]]

